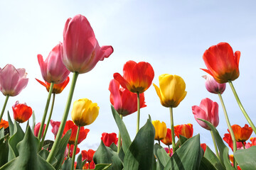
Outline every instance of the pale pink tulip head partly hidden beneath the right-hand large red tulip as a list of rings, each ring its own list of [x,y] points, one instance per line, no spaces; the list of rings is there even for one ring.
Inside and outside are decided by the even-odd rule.
[[[212,76],[205,75],[206,89],[212,94],[223,94],[226,84],[219,84]]]

